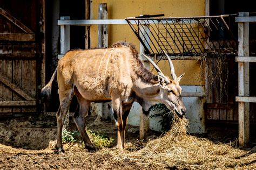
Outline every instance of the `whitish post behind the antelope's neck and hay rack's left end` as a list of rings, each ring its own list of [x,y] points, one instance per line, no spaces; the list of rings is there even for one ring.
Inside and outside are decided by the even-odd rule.
[[[142,16],[142,15],[140,15],[140,16]],[[149,37],[147,36],[150,33],[149,26],[146,24],[140,25],[139,30],[140,30],[140,32],[139,32],[140,37],[142,37],[144,44],[147,46],[147,49],[150,49],[149,45],[146,43],[146,41],[149,42]],[[145,59],[144,56],[142,55],[142,53],[144,53],[144,47],[143,47],[142,43],[140,43],[140,45],[139,45],[139,53],[140,53],[140,59],[142,59],[144,61],[144,66],[149,69],[150,62],[147,59]],[[140,109],[139,140],[143,140],[149,133],[149,130],[150,130],[149,116],[150,116],[149,112],[145,112],[142,108]]]

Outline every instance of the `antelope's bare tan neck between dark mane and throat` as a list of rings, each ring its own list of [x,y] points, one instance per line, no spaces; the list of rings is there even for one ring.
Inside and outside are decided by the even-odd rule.
[[[137,96],[142,97],[144,100],[152,102],[160,101],[160,87],[158,82],[152,83],[137,79],[134,82],[133,90]]]

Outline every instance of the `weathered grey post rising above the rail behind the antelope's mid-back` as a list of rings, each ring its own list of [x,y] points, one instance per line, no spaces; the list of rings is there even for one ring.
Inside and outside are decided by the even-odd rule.
[[[98,19],[107,19],[107,4],[102,3],[98,6],[99,16]],[[107,48],[108,46],[108,26],[107,25],[98,25],[98,47]],[[98,117],[102,119],[107,119],[111,117],[112,109],[109,107],[111,102],[107,103],[97,103],[97,113]]]

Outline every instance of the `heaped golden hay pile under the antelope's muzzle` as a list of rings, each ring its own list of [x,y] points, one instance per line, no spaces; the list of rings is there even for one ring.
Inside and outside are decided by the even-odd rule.
[[[204,138],[187,134],[188,121],[174,116],[172,129],[163,137],[149,141],[142,149],[132,146],[123,152],[103,149],[98,157],[119,164],[157,168],[237,168],[255,162],[254,157],[241,157],[247,152],[233,144],[215,144]],[[133,148],[132,148],[133,147]]]

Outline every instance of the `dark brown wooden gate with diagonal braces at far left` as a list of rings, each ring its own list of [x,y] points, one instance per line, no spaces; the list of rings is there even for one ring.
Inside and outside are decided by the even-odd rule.
[[[0,114],[37,111],[44,59],[42,2],[0,0]]]

